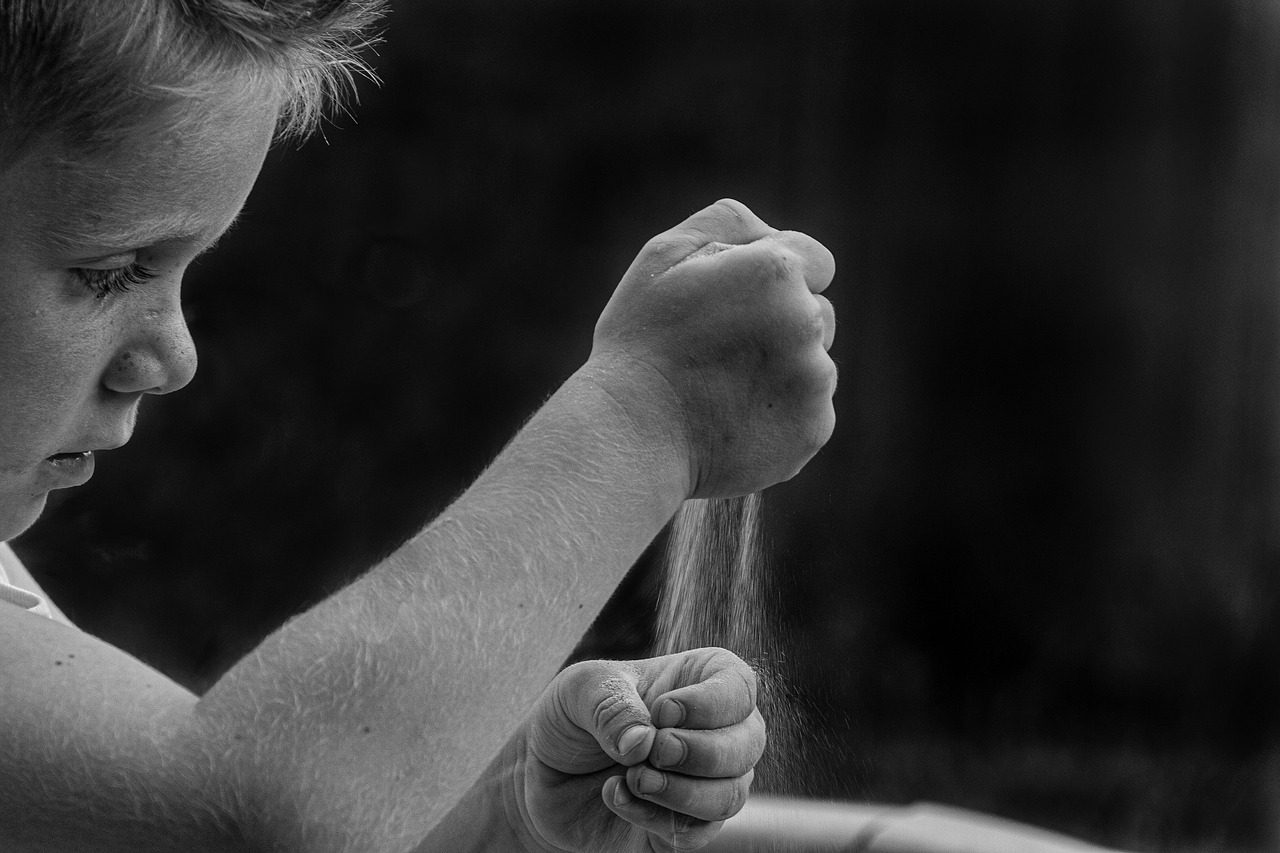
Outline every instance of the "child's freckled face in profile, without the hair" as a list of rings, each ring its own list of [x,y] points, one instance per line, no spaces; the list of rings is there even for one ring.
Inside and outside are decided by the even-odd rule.
[[[207,122],[134,133],[76,160],[0,172],[0,540],[133,432],[138,402],[191,380],[182,274],[230,225],[261,168],[274,104],[201,104]]]

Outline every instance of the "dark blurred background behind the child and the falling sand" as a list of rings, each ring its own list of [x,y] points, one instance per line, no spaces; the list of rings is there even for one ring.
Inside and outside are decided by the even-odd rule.
[[[722,196],[840,264],[765,496],[787,793],[1280,849],[1280,3],[421,0],[188,275],[200,374],[15,543],[202,689],[439,511]],[[582,653],[643,654],[643,561]]]

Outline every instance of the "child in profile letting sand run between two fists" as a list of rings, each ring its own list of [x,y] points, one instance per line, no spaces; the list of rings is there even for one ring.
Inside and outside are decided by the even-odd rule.
[[[361,69],[378,13],[0,0],[0,540],[191,379],[183,270]],[[45,615],[5,551],[0,849],[705,844],[763,751],[750,670],[718,649],[557,666],[684,500],[826,442],[832,275],[737,202],[655,237],[476,483],[204,697]]]

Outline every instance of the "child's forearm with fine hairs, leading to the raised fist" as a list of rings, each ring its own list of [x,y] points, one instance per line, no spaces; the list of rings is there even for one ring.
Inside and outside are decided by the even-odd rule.
[[[402,849],[471,788],[687,494],[635,419],[575,375],[426,530],[201,701],[262,833]]]

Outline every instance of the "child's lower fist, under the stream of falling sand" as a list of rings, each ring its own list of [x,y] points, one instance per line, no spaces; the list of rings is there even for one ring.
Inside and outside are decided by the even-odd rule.
[[[516,809],[543,849],[669,853],[746,802],[764,721],[751,669],[695,649],[568,667],[513,745]]]

